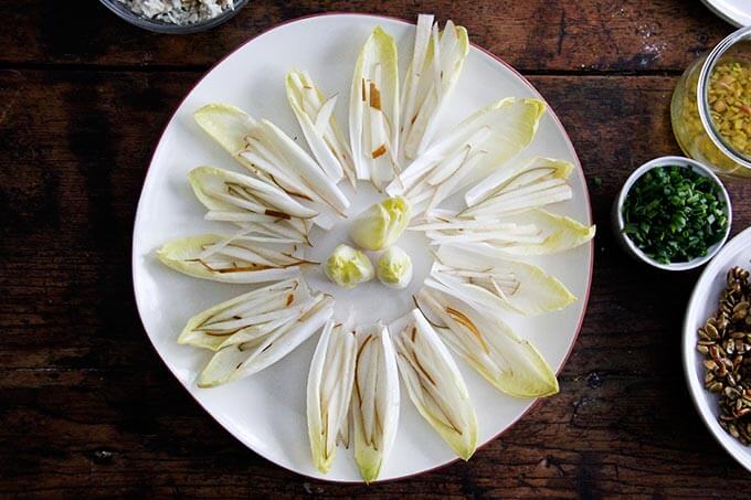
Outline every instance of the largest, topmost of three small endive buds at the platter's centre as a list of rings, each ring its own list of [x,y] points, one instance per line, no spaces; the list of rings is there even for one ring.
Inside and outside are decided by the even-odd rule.
[[[376,203],[355,219],[350,237],[360,247],[380,251],[392,245],[410,223],[412,208],[404,196]]]

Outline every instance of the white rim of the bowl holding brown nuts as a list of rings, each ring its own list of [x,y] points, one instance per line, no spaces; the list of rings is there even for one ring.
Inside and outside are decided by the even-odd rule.
[[[719,267],[727,265],[723,263],[723,258],[728,254],[734,254],[740,247],[748,244],[748,240],[751,240],[751,227],[747,227],[739,234],[737,234],[730,243],[728,243],[720,253],[718,253],[717,258],[713,259],[702,272],[699,279],[694,286],[694,291],[688,299],[688,307],[686,308],[686,316],[684,317],[684,332],[683,332],[683,361],[684,361],[684,375],[686,377],[686,386],[688,387],[688,393],[694,402],[694,407],[696,407],[697,413],[701,416],[705,425],[711,433],[715,440],[724,448],[724,450],[736,459],[744,469],[751,472],[751,456],[747,459],[741,458],[733,449],[731,449],[727,443],[728,439],[736,440],[734,437],[730,436],[724,432],[720,424],[717,423],[715,414],[709,408],[709,404],[705,401],[707,395],[707,390],[704,387],[701,381],[697,380],[695,376],[695,363],[697,359],[696,350],[696,329],[690,325],[691,312],[696,309],[696,302],[699,300],[700,292],[708,286],[708,283],[717,276]]]

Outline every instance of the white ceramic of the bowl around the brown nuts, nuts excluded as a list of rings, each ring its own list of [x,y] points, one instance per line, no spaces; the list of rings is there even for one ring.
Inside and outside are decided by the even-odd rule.
[[[701,364],[704,355],[696,350],[696,342],[699,327],[717,312],[720,292],[727,285],[728,269],[733,266],[749,269],[751,268],[750,259],[751,227],[732,238],[701,273],[688,302],[681,347],[688,392],[691,394],[699,415],[720,445],[749,471],[751,471],[751,447],[743,446],[726,433],[717,422],[720,414],[717,395],[704,387],[705,368]]]

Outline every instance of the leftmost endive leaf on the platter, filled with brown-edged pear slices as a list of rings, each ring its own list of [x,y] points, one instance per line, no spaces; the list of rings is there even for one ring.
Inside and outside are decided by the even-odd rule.
[[[299,276],[300,266],[313,264],[236,236],[202,234],[162,245],[157,257],[165,265],[194,278],[223,283],[268,283]]]

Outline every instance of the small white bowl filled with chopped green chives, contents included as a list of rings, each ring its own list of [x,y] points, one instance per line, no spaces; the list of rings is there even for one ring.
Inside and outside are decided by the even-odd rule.
[[[634,258],[666,270],[711,259],[730,234],[732,211],[722,182],[684,157],[647,161],[626,179],[613,203],[616,240]]]

